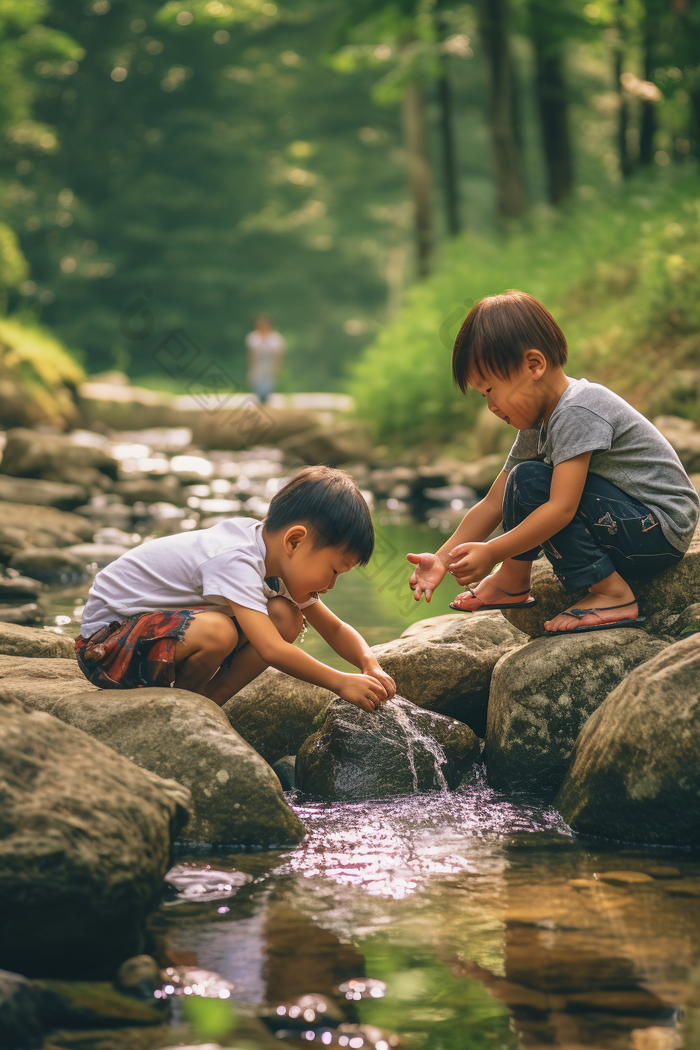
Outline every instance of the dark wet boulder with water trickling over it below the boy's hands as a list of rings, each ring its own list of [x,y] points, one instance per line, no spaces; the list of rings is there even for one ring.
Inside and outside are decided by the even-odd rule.
[[[337,699],[297,755],[296,786],[327,800],[446,791],[479,754],[468,726],[402,696],[372,714]]]

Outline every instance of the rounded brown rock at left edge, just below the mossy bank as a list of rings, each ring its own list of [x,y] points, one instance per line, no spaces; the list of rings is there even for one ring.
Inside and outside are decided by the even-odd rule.
[[[7,430],[2,454],[2,472],[14,478],[72,482],[76,472],[97,469],[116,478],[116,460],[104,448],[80,445],[61,434],[40,434],[18,427]]]

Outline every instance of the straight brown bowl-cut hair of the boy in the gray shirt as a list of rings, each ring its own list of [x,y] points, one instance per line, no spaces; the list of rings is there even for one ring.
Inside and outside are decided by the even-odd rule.
[[[468,377],[492,373],[507,379],[528,350],[550,364],[566,363],[567,339],[549,310],[527,292],[510,290],[475,302],[454,340],[452,378],[463,394]]]

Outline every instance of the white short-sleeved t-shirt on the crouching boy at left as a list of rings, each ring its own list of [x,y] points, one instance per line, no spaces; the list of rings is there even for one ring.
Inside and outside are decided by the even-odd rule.
[[[142,612],[197,605],[232,616],[226,598],[267,613],[269,598],[281,594],[294,600],[281,579],[266,580],[266,554],[262,522],[254,518],[231,518],[208,529],[149,540],[98,572],[81,634],[89,638],[101,627]],[[318,596],[299,608],[314,602]]]

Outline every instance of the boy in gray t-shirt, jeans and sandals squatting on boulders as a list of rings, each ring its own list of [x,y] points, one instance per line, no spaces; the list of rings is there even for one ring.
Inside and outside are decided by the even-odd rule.
[[[524,292],[470,311],[454,343],[454,381],[518,434],[488,495],[440,550],[408,554],[417,601],[429,602],[450,572],[469,585],[452,609],[526,608],[544,550],[566,590],[589,589],[545,625],[548,634],[635,627],[643,616],[630,582],[687,550],[699,500],[678,456],[617,394],[566,376],[567,353],[552,315]],[[504,534],[487,541],[502,520]]]

